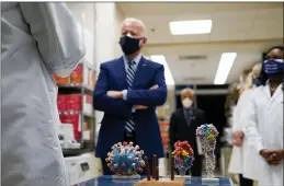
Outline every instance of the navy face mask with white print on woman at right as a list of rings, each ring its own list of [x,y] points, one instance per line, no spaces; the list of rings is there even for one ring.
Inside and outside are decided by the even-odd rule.
[[[263,70],[270,79],[277,74],[282,74],[283,68],[283,59],[269,59],[263,62]]]

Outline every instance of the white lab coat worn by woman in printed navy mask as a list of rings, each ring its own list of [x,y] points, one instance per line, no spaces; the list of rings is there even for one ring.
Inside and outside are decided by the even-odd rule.
[[[246,114],[241,117],[246,123],[245,133],[249,146],[257,153],[261,149],[283,149],[283,91],[280,85],[271,96],[269,85],[259,86],[251,94]],[[259,159],[254,168],[259,186],[283,186],[283,161],[279,166],[269,165]]]

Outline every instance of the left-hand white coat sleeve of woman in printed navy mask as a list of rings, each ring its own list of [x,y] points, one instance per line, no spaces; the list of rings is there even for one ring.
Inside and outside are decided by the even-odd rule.
[[[243,132],[248,139],[248,143],[251,148],[254,148],[259,153],[264,149],[262,137],[258,129],[258,117],[257,117],[257,106],[253,98],[253,94],[250,95],[249,102],[246,104],[246,108],[240,116],[240,121],[242,123]]]

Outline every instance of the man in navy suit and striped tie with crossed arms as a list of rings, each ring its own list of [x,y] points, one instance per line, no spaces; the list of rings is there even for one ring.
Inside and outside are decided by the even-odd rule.
[[[93,107],[104,112],[96,144],[103,173],[112,174],[105,158],[114,143],[133,141],[148,158],[163,158],[156,106],[167,100],[163,66],[145,59],[146,27],[136,19],[126,19],[120,40],[124,55],[100,67],[93,94]]]

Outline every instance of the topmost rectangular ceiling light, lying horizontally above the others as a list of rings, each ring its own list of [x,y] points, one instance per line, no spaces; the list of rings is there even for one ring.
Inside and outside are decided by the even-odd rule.
[[[174,21],[169,25],[172,35],[208,34],[212,28],[212,20]]]

